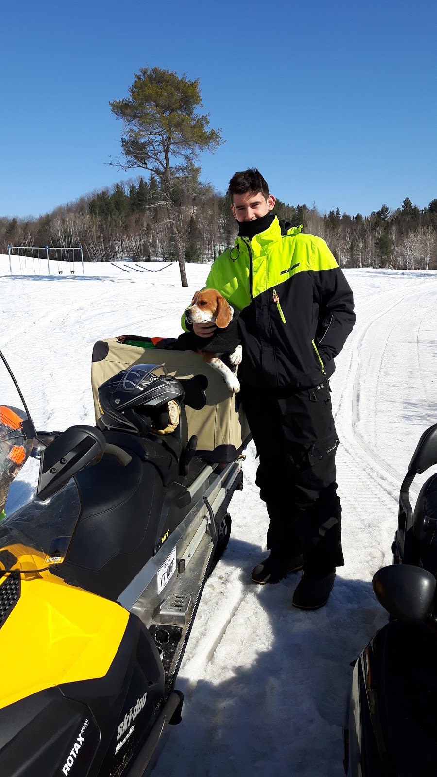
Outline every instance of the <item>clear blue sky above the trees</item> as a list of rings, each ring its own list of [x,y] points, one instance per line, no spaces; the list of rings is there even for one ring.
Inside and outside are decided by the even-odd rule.
[[[200,78],[226,140],[201,159],[218,190],[257,166],[281,200],[320,211],[437,197],[435,0],[21,0],[2,28],[2,215],[128,178],[107,166],[108,103],[146,65]]]

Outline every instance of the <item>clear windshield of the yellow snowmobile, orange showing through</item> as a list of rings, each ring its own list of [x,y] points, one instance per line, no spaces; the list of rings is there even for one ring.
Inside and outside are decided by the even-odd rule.
[[[40,452],[54,436],[35,432],[24,405],[0,358],[0,576],[59,563],[80,515],[74,480],[47,500],[37,497]]]

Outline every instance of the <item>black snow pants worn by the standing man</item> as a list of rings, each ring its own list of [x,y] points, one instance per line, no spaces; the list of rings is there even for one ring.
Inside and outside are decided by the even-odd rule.
[[[302,552],[309,573],[342,566],[329,382],[288,395],[243,385],[240,401],[260,458],[256,483],[270,517],[267,548],[282,557]]]

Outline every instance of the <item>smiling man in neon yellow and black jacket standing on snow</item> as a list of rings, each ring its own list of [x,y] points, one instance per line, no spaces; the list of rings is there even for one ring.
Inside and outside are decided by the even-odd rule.
[[[292,604],[316,609],[344,564],[329,378],[355,324],[353,294],[322,239],[302,234],[302,226],[281,229],[257,169],[236,172],[229,194],[239,233],[215,260],[206,287],[240,312],[240,398],[270,517],[270,556],[252,580],[277,583],[303,568]],[[193,329],[208,337],[215,326]]]

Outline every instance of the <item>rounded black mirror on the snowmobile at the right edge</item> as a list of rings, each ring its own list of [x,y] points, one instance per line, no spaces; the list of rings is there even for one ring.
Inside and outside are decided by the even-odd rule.
[[[432,613],[435,577],[420,566],[383,566],[373,577],[372,586],[379,604],[393,618],[420,623]]]

